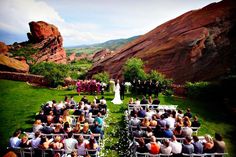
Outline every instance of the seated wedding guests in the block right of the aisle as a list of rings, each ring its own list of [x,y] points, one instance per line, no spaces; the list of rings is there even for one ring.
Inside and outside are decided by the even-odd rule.
[[[130,99],[130,103],[133,99]],[[145,101],[145,99],[143,98]],[[146,102],[148,103],[148,102]],[[135,102],[134,102],[135,104]],[[185,154],[224,153],[225,143],[222,136],[215,134],[215,139],[205,135],[199,139],[193,135],[201,123],[191,109],[165,110],[164,113],[151,107],[134,107],[128,115],[131,135],[135,139],[136,152],[150,154]],[[161,139],[157,141],[156,138]],[[177,139],[181,139],[178,141]]]

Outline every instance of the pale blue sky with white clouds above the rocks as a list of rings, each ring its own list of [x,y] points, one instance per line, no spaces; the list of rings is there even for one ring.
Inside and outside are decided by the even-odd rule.
[[[30,21],[56,25],[64,46],[141,35],[219,0],[0,0],[0,41],[27,40]]]

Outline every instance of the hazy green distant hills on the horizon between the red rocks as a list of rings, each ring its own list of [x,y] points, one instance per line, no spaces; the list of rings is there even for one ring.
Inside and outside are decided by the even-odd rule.
[[[78,45],[78,46],[71,46],[71,47],[65,47],[65,50],[67,54],[71,54],[73,52],[75,53],[95,53],[97,51],[100,51],[102,49],[110,49],[115,50],[119,47],[122,47],[123,45],[127,44],[128,42],[133,41],[134,39],[140,37],[133,36],[127,39],[114,39],[114,40],[108,40],[104,43],[97,43],[97,44],[91,44],[91,45]]]

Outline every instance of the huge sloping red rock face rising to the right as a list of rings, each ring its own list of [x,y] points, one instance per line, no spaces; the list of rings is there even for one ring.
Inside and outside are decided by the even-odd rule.
[[[95,63],[93,73],[107,71],[122,77],[122,66],[131,57],[173,78],[176,83],[212,80],[236,63],[236,5],[223,0],[170,20],[120,50]]]

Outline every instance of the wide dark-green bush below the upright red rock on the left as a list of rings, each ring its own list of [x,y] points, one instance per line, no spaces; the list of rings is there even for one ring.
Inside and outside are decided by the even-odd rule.
[[[51,87],[57,87],[64,84],[69,68],[64,64],[41,62],[33,65],[30,71],[32,74],[43,75]]]

